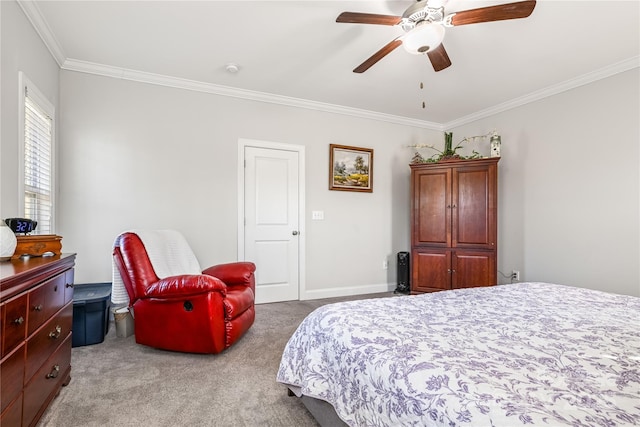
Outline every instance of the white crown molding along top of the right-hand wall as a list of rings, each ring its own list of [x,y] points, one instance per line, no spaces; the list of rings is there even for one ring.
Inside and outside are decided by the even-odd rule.
[[[547,88],[544,88],[535,92],[531,92],[519,98],[514,98],[510,101],[494,105],[493,107],[489,107],[484,110],[477,111],[468,116],[461,117],[456,120],[452,120],[448,123],[445,123],[443,128],[452,129],[457,126],[466,125],[476,120],[484,119],[484,118],[493,116],[495,114],[502,113],[503,111],[511,110],[513,108],[520,107],[522,105],[529,104],[531,102],[539,101],[541,99],[548,98],[550,96],[557,95],[559,93],[566,92],[568,90],[575,89],[577,87],[584,86],[586,84],[593,83],[595,81],[598,81],[607,77],[611,77],[615,74],[623,73],[625,71],[629,71],[638,67],[640,67],[640,56],[634,56],[624,61],[616,62],[614,64],[592,71],[590,73],[586,73],[576,78],[558,83],[556,85],[552,85]]]

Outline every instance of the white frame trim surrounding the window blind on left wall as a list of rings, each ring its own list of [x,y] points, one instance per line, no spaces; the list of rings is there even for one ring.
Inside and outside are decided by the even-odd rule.
[[[56,115],[54,105],[47,99],[47,97],[33,84],[33,82],[22,71],[18,73],[18,208],[19,216],[24,217],[25,213],[25,101],[27,98],[26,93],[29,93],[29,98],[33,100],[39,108],[41,108],[51,118],[51,229],[48,232],[42,233],[41,230],[34,231],[33,234],[55,234],[56,230],[56,201],[57,201],[57,150],[56,150]]]

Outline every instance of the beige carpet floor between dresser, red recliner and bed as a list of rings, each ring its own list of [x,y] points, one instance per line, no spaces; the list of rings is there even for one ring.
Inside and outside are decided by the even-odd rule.
[[[256,306],[256,321],[218,355],[155,350],[117,338],[76,347],[71,383],[39,426],[317,426],[310,413],[275,381],[284,346],[315,308],[359,297]]]

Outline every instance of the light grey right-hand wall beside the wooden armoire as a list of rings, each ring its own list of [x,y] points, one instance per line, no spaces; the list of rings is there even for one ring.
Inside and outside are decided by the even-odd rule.
[[[502,135],[505,274],[640,296],[639,77],[635,68],[453,129],[454,141]]]

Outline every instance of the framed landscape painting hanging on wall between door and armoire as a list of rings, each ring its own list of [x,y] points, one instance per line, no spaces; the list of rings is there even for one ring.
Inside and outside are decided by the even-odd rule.
[[[329,190],[373,192],[373,149],[329,145]]]

